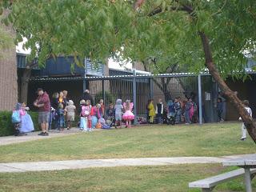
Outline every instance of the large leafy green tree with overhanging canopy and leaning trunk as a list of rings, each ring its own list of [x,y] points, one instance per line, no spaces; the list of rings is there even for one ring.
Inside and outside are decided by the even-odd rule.
[[[10,9],[6,22],[13,23],[18,41],[28,39],[30,59],[40,65],[64,54],[157,58],[157,66],[169,57],[193,72],[207,68],[256,142],[256,125],[224,81],[246,77],[244,53],[256,42],[254,0],[22,0]]]

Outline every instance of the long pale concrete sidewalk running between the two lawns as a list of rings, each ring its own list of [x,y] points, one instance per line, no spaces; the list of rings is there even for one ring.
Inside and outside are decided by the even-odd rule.
[[[226,157],[178,157],[178,158],[112,158],[87,159],[55,162],[13,162],[0,163],[0,173],[14,173],[42,170],[75,170],[94,167],[114,166],[166,166],[178,164],[221,163],[230,158],[239,158],[242,155]]]

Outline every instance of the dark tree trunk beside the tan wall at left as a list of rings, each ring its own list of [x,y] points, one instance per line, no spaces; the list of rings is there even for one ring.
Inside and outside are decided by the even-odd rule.
[[[29,88],[29,79],[31,75],[31,69],[25,69],[22,74],[22,85],[21,85],[21,102],[27,103],[27,93]]]

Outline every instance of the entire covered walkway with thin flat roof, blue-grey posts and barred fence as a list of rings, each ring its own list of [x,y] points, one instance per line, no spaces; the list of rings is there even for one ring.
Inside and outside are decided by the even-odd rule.
[[[68,90],[69,97],[78,103],[82,90],[90,90],[95,102],[103,99],[106,106],[115,103],[117,98],[122,102],[130,99],[134,102],[136,117],[146,117],[146,106],[149,99],[154,104],[161,98],[166,106],[169,99],[185,98],[194,93],[194,102],[198,104],[198,118],[202,123],[208,116],[207,122],[214,122],[214,106],[218,97],[218,86],[209,74],[130,74],[98,77],[62,77],[62,78],[31,78],[30,90],[42,87],[50,94],[58,90]],[[33,92],[32,91],[32,92]],[[33,92],[34,93],[34,92]],[[210,95],[210,96],[209,96]],[[31,102],[32,103],[32,102]],[[135,121],[136,123],[136,121]]]

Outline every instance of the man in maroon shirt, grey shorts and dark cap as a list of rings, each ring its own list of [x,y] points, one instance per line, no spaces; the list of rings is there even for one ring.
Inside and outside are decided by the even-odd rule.
[[[34,101],[34,106],[38,107],[38,122],[42,132],[38,135],[48,136],[49,118],[50,118],[50,98],[46,91],[38,88],[38,98]]]

